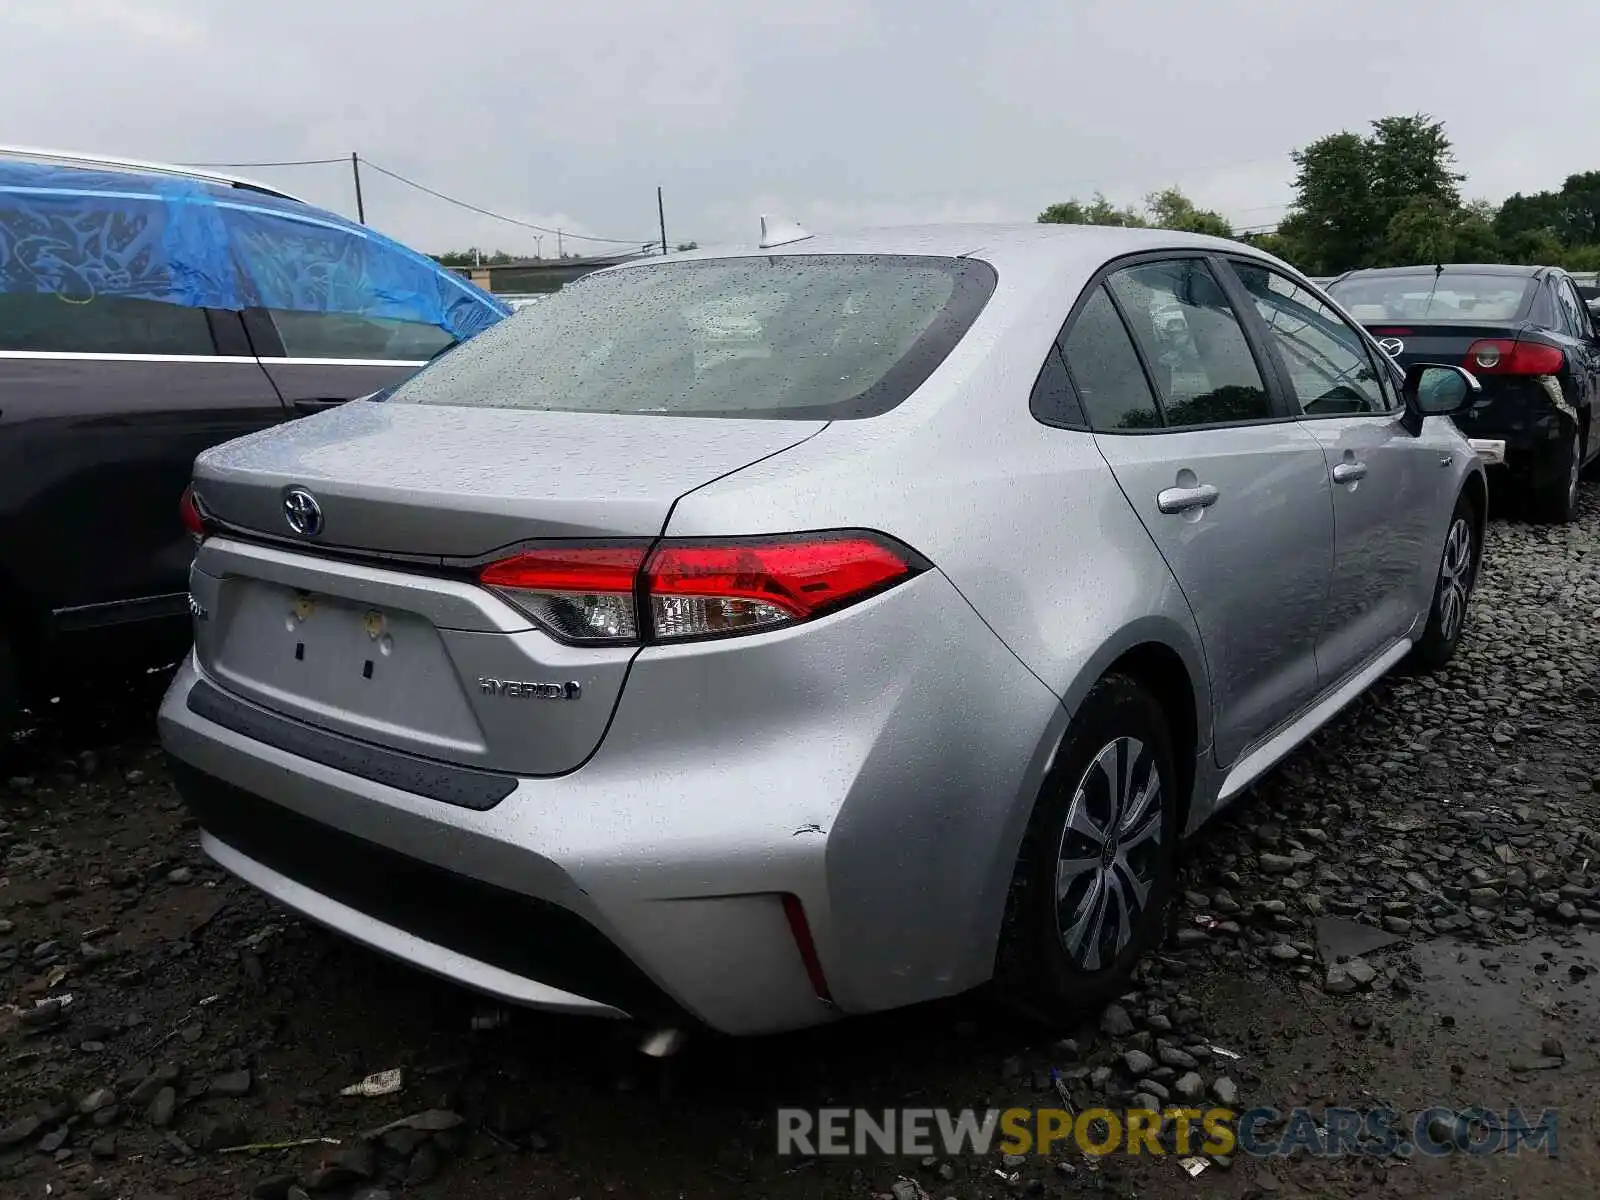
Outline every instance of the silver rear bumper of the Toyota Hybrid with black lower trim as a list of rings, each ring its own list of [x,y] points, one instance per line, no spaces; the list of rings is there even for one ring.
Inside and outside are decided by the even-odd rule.
[[[739,642],[642,653],[595,757],[485,810],[210,720],[194,659],[160,731],[224,867],[514,1003],[763,1034],[987,979],[1056,698],[938,573]]]

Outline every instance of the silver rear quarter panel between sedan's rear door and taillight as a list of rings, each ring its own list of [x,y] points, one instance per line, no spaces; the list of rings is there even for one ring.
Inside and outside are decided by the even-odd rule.
[[[1197,698],[1197,752],[1210,752],[1205,659],[1176,581],[1093,437],[1042,426],[1029,413],[1038,368],[1074,298],[1075,286],[1059,286],[989,328],[986,312],[904,405],[867,421],[837,421],[803,445],[690,493],[666,530],[669,536],[846,526],[888,533],[926,555],[982,626],[1042,680],[1040,696],[1054,696],[1054,712],[1035,726],[1040,741],[1029,765],[976,798],[986,819],[963,834],[960,853],[984,862],[971,931],[979,952],[992,950],[998,938],[1022,832],[1067,722],[1120,654],[1146,642],[1178,653]],[[1002,330],[992,331],[994,325]],[[963,688],[971,683],[982,680],[952,670],[949,702],[962,706],[963,720],[982,722],[995,706]],[[1197,797],[1195,810],[1208,806]],[[930,838],[941,835],[939,816],[928,813]],[[974,827],[984,845],[974,843]],[[934,858],[936,851],[930,848]],[[950,885],[918,880],[917,886],[936,896]]]

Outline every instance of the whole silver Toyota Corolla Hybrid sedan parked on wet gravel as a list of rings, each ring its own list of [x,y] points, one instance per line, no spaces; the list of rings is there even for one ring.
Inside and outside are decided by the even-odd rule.
[[[198,459],[162,738],[227,870],[506,1000],[1094,1003],[1182,835],[1451,656],[1475,390],[1187,234],[610,269]]]

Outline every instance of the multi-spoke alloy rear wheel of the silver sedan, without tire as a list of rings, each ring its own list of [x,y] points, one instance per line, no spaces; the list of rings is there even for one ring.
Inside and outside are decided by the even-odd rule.
[[[1160,862],[1165,810],[1155,754],[1136,738],[1083,771],[1056,861],[1056,923],[1074,966],[1110,966],[1133,941]]]

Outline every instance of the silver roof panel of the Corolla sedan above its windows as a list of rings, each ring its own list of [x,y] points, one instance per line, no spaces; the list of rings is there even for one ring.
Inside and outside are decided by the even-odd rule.
[[[701,250],[627,262],[611,270],[637,270],[642,266],[712,259],[712,258],[776,258],[790,254],[909,254],[938,258],[973,258],[992,264],[1002,274],[1056,275],[1062,270],[1090,269],[1123,254],[1147,250],[1214,250],[1266,259],[1243,242],[1184,234],[1171,229],[1123,229],[1120,226],[1056,226],[1056,224],[930,224],[856,229],[816,234],[800,242],[760,248],[755,245],[706,246]]]

